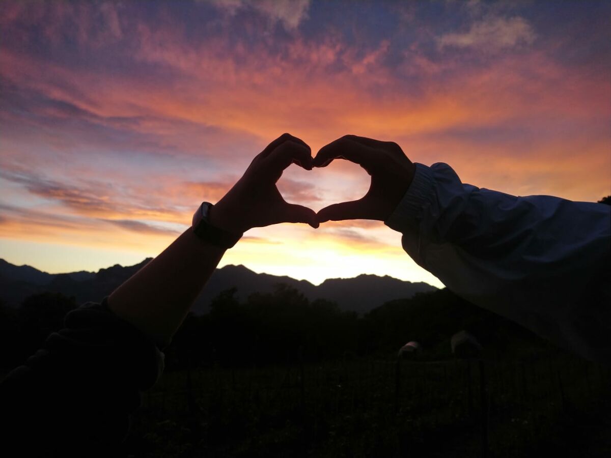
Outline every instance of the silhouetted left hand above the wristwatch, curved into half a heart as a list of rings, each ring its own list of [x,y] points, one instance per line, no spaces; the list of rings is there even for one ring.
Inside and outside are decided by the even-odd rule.
[[[242,178],[213,206],[211,224],[235,233],[284,222],[318,227],[312,209],[287,203],[276,187],[292,163],[312,170],[312,150],[297,137],[283,134],[253,159]]]

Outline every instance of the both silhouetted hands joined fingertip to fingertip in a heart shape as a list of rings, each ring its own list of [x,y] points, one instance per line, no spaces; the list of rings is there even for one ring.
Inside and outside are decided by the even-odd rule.
[[[364,197],[312,209],[287,203],[276,187],[282,172],[292,163],[305,170],[326,167],[334,159],[359,164],[371,176]],[[315,158],[303,140],[283,134],[265,148],[244,175],[214,206],[211,224],[241,233],[252,227],[280,222],[321,222],[345,219],[386,220],[397,207],[414,177],[415,166],[394,142],[343,136],[321,148]]]

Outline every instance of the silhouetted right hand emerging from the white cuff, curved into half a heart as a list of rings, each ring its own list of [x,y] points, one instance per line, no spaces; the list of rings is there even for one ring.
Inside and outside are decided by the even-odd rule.
[[[359,200],[335,203],[321,209],[317,214],[321,223],[343,219],[385,221],[414,179],[415,165],[395,142],[346,135],[321,148],[312,165],[326,167],[333,159],[347,159],[359,164],[371,175],[371,185]]]

